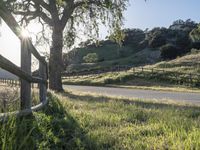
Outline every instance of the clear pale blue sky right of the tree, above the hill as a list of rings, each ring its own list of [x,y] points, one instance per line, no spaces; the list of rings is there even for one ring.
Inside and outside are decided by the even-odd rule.
[[[125,27],[168,27],[177,19],[200,22],[200,0],[130,0],[125,13]]]

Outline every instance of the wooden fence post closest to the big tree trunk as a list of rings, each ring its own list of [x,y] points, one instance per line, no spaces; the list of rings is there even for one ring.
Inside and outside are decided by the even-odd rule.
[[[42,62],[39,62],[39,76],[43,80],[47,80],[46,72],[47,72],[46,65],[43,64]],[[40,88],[40,102],[43,102],[43,101],[45,101],[46,94],[47,94],[47,85],[46,85],[46,83],[40,83],[39,84],[39,88]]]

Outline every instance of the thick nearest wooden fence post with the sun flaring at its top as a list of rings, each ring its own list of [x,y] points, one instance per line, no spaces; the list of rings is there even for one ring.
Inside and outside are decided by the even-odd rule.
[[[21,69],[31,75],[31,52],[27,39],[21,40]],[[21,79],[21,110],[31,108],[31,83]]]

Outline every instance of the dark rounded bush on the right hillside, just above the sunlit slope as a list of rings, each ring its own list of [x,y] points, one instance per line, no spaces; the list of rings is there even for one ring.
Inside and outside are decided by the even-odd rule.
[[[160,48],[161,58],[166,59],[175,59],[177,56],[181,55],[181,49],[172,45],[166,44]]]

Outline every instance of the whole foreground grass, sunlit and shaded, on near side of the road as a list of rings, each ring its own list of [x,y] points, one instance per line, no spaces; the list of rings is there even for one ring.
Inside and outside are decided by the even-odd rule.
[[[199,106],[49,93],[49,105],[0,123],[0,149],[200,149]]]

